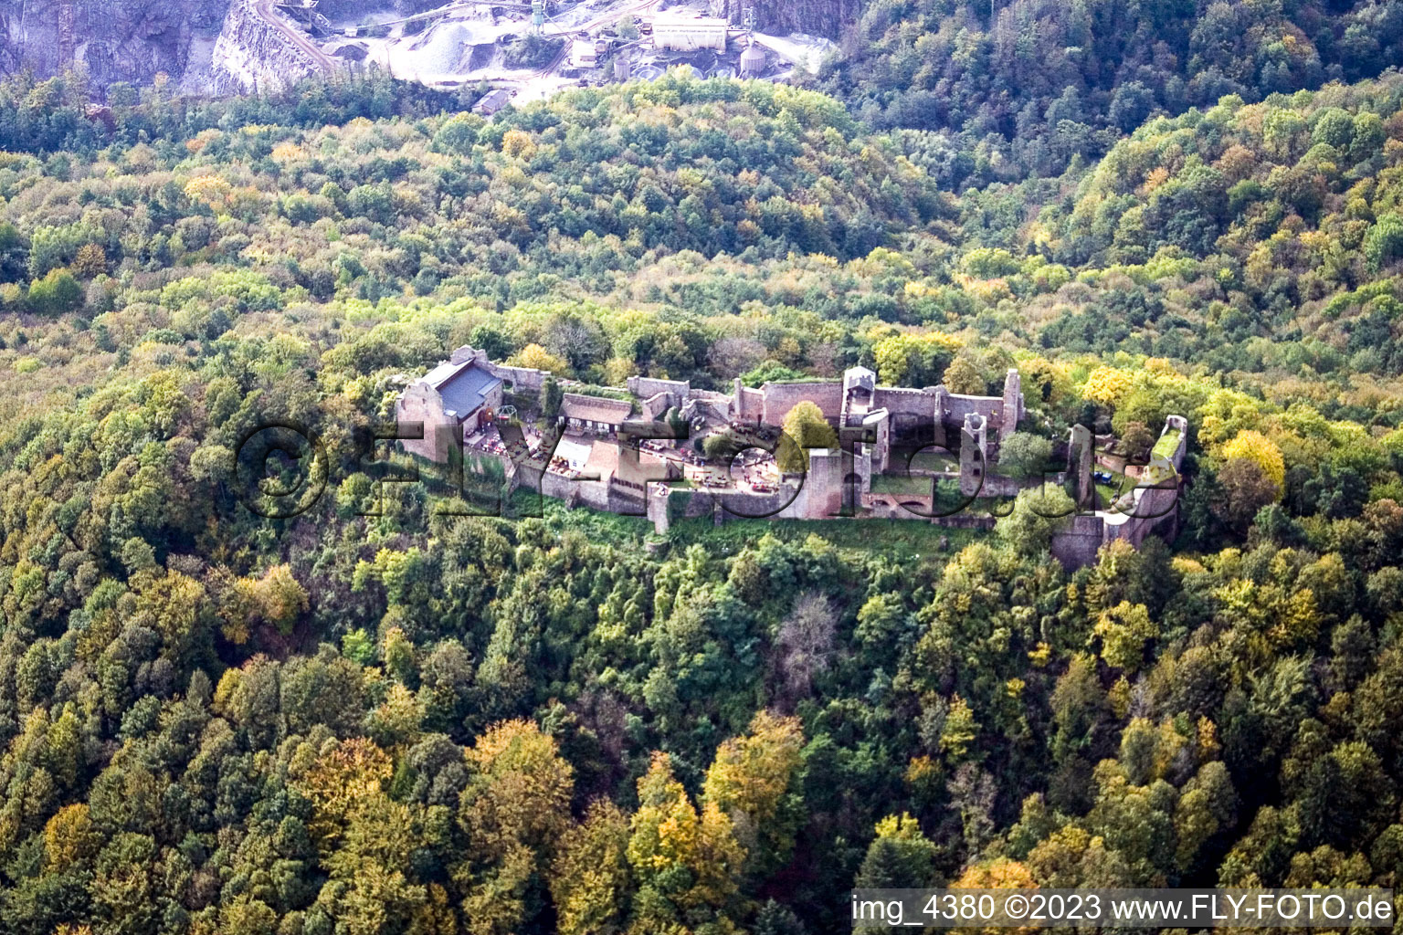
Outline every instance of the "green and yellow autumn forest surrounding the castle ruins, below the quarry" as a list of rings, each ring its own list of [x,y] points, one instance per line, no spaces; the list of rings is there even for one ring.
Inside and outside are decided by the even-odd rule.
[[[492,119],[380,76],[4,83],[0,929],[819,935],[854,885],[1395,886],[1400,34],[884,0],[815,87]],[[1017,366],[1048,440],[1188,416],[1181,533],[1068,572],[1027,503],[462,516],[358,442],[462,343],[596,385]],[[327,451],[296,519],[241,495],[276,421]]]

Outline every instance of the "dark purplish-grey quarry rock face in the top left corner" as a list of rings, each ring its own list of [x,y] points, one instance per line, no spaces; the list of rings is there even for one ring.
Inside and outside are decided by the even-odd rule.
[[[83,67],[98,94],[164,73],[199,91],[230,0],[0,0],[0,73]],[[191,87],[194,84],[194,87]]]

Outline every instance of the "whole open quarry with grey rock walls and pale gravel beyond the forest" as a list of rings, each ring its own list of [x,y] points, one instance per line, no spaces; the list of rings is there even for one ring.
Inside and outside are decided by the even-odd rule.
[[[0,73],[79,70],[102,97],[119,81],[229,95],[383,69],[521,104],[678,66],[784,81],[815,71],[854,14],[845,0],[0,0]]]

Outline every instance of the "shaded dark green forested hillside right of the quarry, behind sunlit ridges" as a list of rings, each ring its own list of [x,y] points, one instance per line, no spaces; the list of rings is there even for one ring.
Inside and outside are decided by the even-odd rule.
[[[950,185],[1056,174],[1153,114],[1358,81],[1403,62],[1378,0],[873,0],[822,84],[944,150]]]

